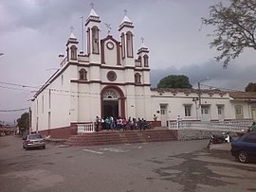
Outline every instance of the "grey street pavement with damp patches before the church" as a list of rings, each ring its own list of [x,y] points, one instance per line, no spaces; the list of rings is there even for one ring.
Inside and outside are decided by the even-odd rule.
[[[207,144],[207,140],[76,148],[48,144],[46,149],[25,150],[21,138],[0,137],[0,191],[256,191],[255,164],[238,163],[228,150],[213,152]]]

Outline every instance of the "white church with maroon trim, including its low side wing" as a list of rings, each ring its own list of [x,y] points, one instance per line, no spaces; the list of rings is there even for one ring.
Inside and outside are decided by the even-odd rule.
[[[178,115],[183,121],[256,119],[253,93],[151,88],[150,51],[143,43],[135,50],[134,24],[127,15],[118,39],[101,37],[101,18],[94,9],[84,27],[86,53],[78,51],[71,33],[58,71],[33,96],[32,131],[68,138],[81,126],[93,125],[96,116],[110,115],[139,117],[161,127]]]

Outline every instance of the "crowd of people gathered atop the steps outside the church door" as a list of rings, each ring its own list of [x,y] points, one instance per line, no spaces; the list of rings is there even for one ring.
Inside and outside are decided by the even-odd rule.
[[[100,130],[106,130],[106,131],[127,131],[127,130],[139,130],[144,131],[146,129],[151,128],[151,123],[148,123],[143,118],[131,118],[128,119],[121,118],[120,116],[118,118],[113,116],[107,116],[105,118],[101,118],[99,116],[96,116],[96,131]]]

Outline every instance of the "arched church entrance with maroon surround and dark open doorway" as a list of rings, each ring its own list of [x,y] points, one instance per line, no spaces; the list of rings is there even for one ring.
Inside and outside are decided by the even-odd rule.
[[[102,117],[124,117],[124,95],[118,86],[106,86],[101,90]]]

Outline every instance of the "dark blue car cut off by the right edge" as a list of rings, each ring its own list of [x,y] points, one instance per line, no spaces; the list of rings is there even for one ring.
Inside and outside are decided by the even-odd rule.
[[[256,132],[247,132],[231,143],[231,154],[240,162],[256,160]]]

